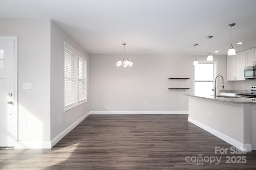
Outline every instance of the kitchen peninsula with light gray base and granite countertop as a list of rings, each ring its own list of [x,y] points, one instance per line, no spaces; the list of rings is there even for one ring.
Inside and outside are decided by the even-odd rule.
[[[244,97],[189,97],[188,121],[243,151],[256,150],[256,102]]]

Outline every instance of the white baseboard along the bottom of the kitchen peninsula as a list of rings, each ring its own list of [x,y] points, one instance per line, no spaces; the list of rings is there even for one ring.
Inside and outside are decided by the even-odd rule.
[[[243,144],[241,142],[238,142],[237,140],[233,139],[233,138],[230,138],[229,136],[225,135],[225,134],[222,134],[221,132],[211,128],[211,127],[208,127],[190,117],[188,117],[188,121],[193,123],[194,125],[206,130],[207,132],[210,132],[211,134],[213,134],[214,136],[217,136],[218,138],[224,140],[225,142],[235,146],[236,148],[242,150],[242,151],[248,151],[248,152],[251,152],[252,151],[252,145],[251,144]]]

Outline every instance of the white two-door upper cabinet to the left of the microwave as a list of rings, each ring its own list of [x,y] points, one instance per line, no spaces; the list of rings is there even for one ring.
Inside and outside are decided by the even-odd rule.
[[[245,80],[244,79],[245,67],[245,51],[236,53],[236,55],[227,56],[227,80]]]

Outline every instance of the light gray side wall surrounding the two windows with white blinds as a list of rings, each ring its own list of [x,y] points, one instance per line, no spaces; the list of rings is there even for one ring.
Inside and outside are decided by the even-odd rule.
[[[69,111],[63,112],[64,108],[64,41],[77,49],[80,53],[87,57],[88,63],[88,89],[89,89],[89,63],[90,55],[70,36],[62,31],[53,21],[51,21],[51,140],[66,128],[80,119],[83,115],[90,111],[90,93],[88,91],[88,102],[79,105]],[[58,119],[60,117],[60,123]]]

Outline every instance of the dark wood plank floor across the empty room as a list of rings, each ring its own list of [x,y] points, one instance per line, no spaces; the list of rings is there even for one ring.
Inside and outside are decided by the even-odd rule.
[[[0,150],[0,169],[256,169],[255,151],[232,154],[230,144],[187,118],[90,115],[52,149]],[[215,153],[215,146],[228,151]]]

